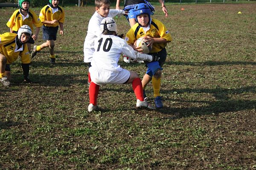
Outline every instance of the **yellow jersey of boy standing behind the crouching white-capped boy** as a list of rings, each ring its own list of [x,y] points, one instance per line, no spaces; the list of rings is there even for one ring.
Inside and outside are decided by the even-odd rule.
[[[25,17],[24,20],[23,17]],[[14,11],[6,25],[9,28],[12,28],[12,31],[18,31],[21,26],[28,25],[33,31],[33,25],[35,25],[35,27],[41,27],[43,24],[34,11],[29,10],[28,16],[23,16],[20,9],[17,9]]]

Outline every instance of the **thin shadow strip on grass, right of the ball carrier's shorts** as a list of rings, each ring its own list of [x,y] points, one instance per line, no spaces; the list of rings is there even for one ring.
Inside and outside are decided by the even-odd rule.
[[[256,62],[250,61],[207,61],[207,62],[165,62],[165,65],[191,65],[191,66],[198,66],[198,65],[256,65]]]

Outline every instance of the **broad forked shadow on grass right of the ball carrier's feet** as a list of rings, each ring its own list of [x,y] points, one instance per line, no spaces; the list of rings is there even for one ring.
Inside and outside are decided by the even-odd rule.
[[[223,89],[223,88],[216,88],[216,89],[176,89],[172,91],[162,91],[162,94],[172,94],[173,92],[177,92],[177,94],[182,93],[209,93],[215,97],[218,101],[197,101],[191,100],[186,101],[189,103],[202,103],[206,104],[206,106],[200,107],[190,107],[190,108],[163,108],[158,110],[164,114],[176,114],[176,118],[184,117],[184,116],[192,116],[192,115],[205,115],[205,114],[212,114],[212,113],[223,113],[223,112],[230,112],[230,111],[244,111],[247,109],[255,109],[256,108],[256,100],[230,100],[228,97],[229,94],[242,94],[242,93],[256,93],[256,86],[248,86],[244,88],[237,88],[237,89]],[[181,100],[172,100],[172,99],[165,99],[171,100],[175,102],[184,102]]]

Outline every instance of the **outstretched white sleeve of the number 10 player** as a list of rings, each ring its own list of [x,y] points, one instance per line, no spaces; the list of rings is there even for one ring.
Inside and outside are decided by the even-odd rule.
[[[126,42],[120,42],[122,46],[122,53],[125,54],[128,57],[131,57],[132,59],[137,60],[144,60],[151,62],[153,57],[148,54],[139,53],[138,51],[135,51],[130,45],[128,45]]]

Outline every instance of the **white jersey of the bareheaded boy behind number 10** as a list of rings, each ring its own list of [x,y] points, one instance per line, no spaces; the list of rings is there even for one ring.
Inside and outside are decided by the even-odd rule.
[[[119,9],[110,9],[108,17],[121,16],[125,11]],[[90,18],[87,35],[84,40],[84,62],[91,62],[94,53],[94,39],[100,34],[100,23],[105,17],[102,17],[97,11]]]

